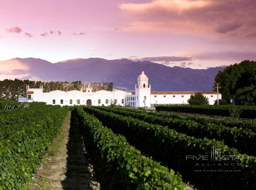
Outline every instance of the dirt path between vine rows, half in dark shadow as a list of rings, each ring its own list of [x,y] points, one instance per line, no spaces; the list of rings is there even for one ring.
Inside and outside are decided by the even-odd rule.
[[[93,169],[86,158],[82,134],[72,123],[71,111],[62,127],[61,137],[50,147],[56,149],[55,156],[44,158],[29,189],[100,189],[92,180]]]

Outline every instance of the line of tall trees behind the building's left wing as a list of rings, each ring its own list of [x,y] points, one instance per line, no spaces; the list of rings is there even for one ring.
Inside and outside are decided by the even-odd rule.
[[[113,82],[110,83],[82,83],[81,81],[75,82],[43,82],[43,81],[30,81],[30,80],[9,80],[5,79],[0,81],[0,99],[15,100],[19,96],[26,96],[26,86],[30,88],[39,88],[43,86],[44,92],[53,90],[80,90],[86,91],[86,88],[92,88],[92,91],[98,90],[113,90]]]

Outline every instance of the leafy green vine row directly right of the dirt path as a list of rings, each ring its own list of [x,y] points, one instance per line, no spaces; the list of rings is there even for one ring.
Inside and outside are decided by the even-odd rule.
[[[180,175],[144,157],[125,137],[76,107],[85,146],[102,189],[185,189]]]

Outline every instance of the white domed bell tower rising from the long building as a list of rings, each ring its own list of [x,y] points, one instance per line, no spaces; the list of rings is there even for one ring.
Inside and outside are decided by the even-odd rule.
[[[135,107],[150,107],[150,92],[151,86],[148,84],[148,77],[142,71],[137,79],[138,83],[135,85]]]

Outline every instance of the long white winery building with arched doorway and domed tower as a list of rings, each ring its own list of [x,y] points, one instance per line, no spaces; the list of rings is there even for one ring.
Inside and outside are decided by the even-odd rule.
[[[188,99],[196,91],[151,91],[148,84],[148,77],[142,71],[137,79],[134,92],[122,90],[93,92],[91,88],[86,88],[85,92],[79,90],[43,92],[43,88],[29,88],[27,86],[27,102],[46,102],[52,105],[122,105],[130,107],[154,107],[155,105],[188,104]],[[214,91],[201,91],[209,98],[209,104],[214,104],[217,96],[221,99],[221,94]]]

